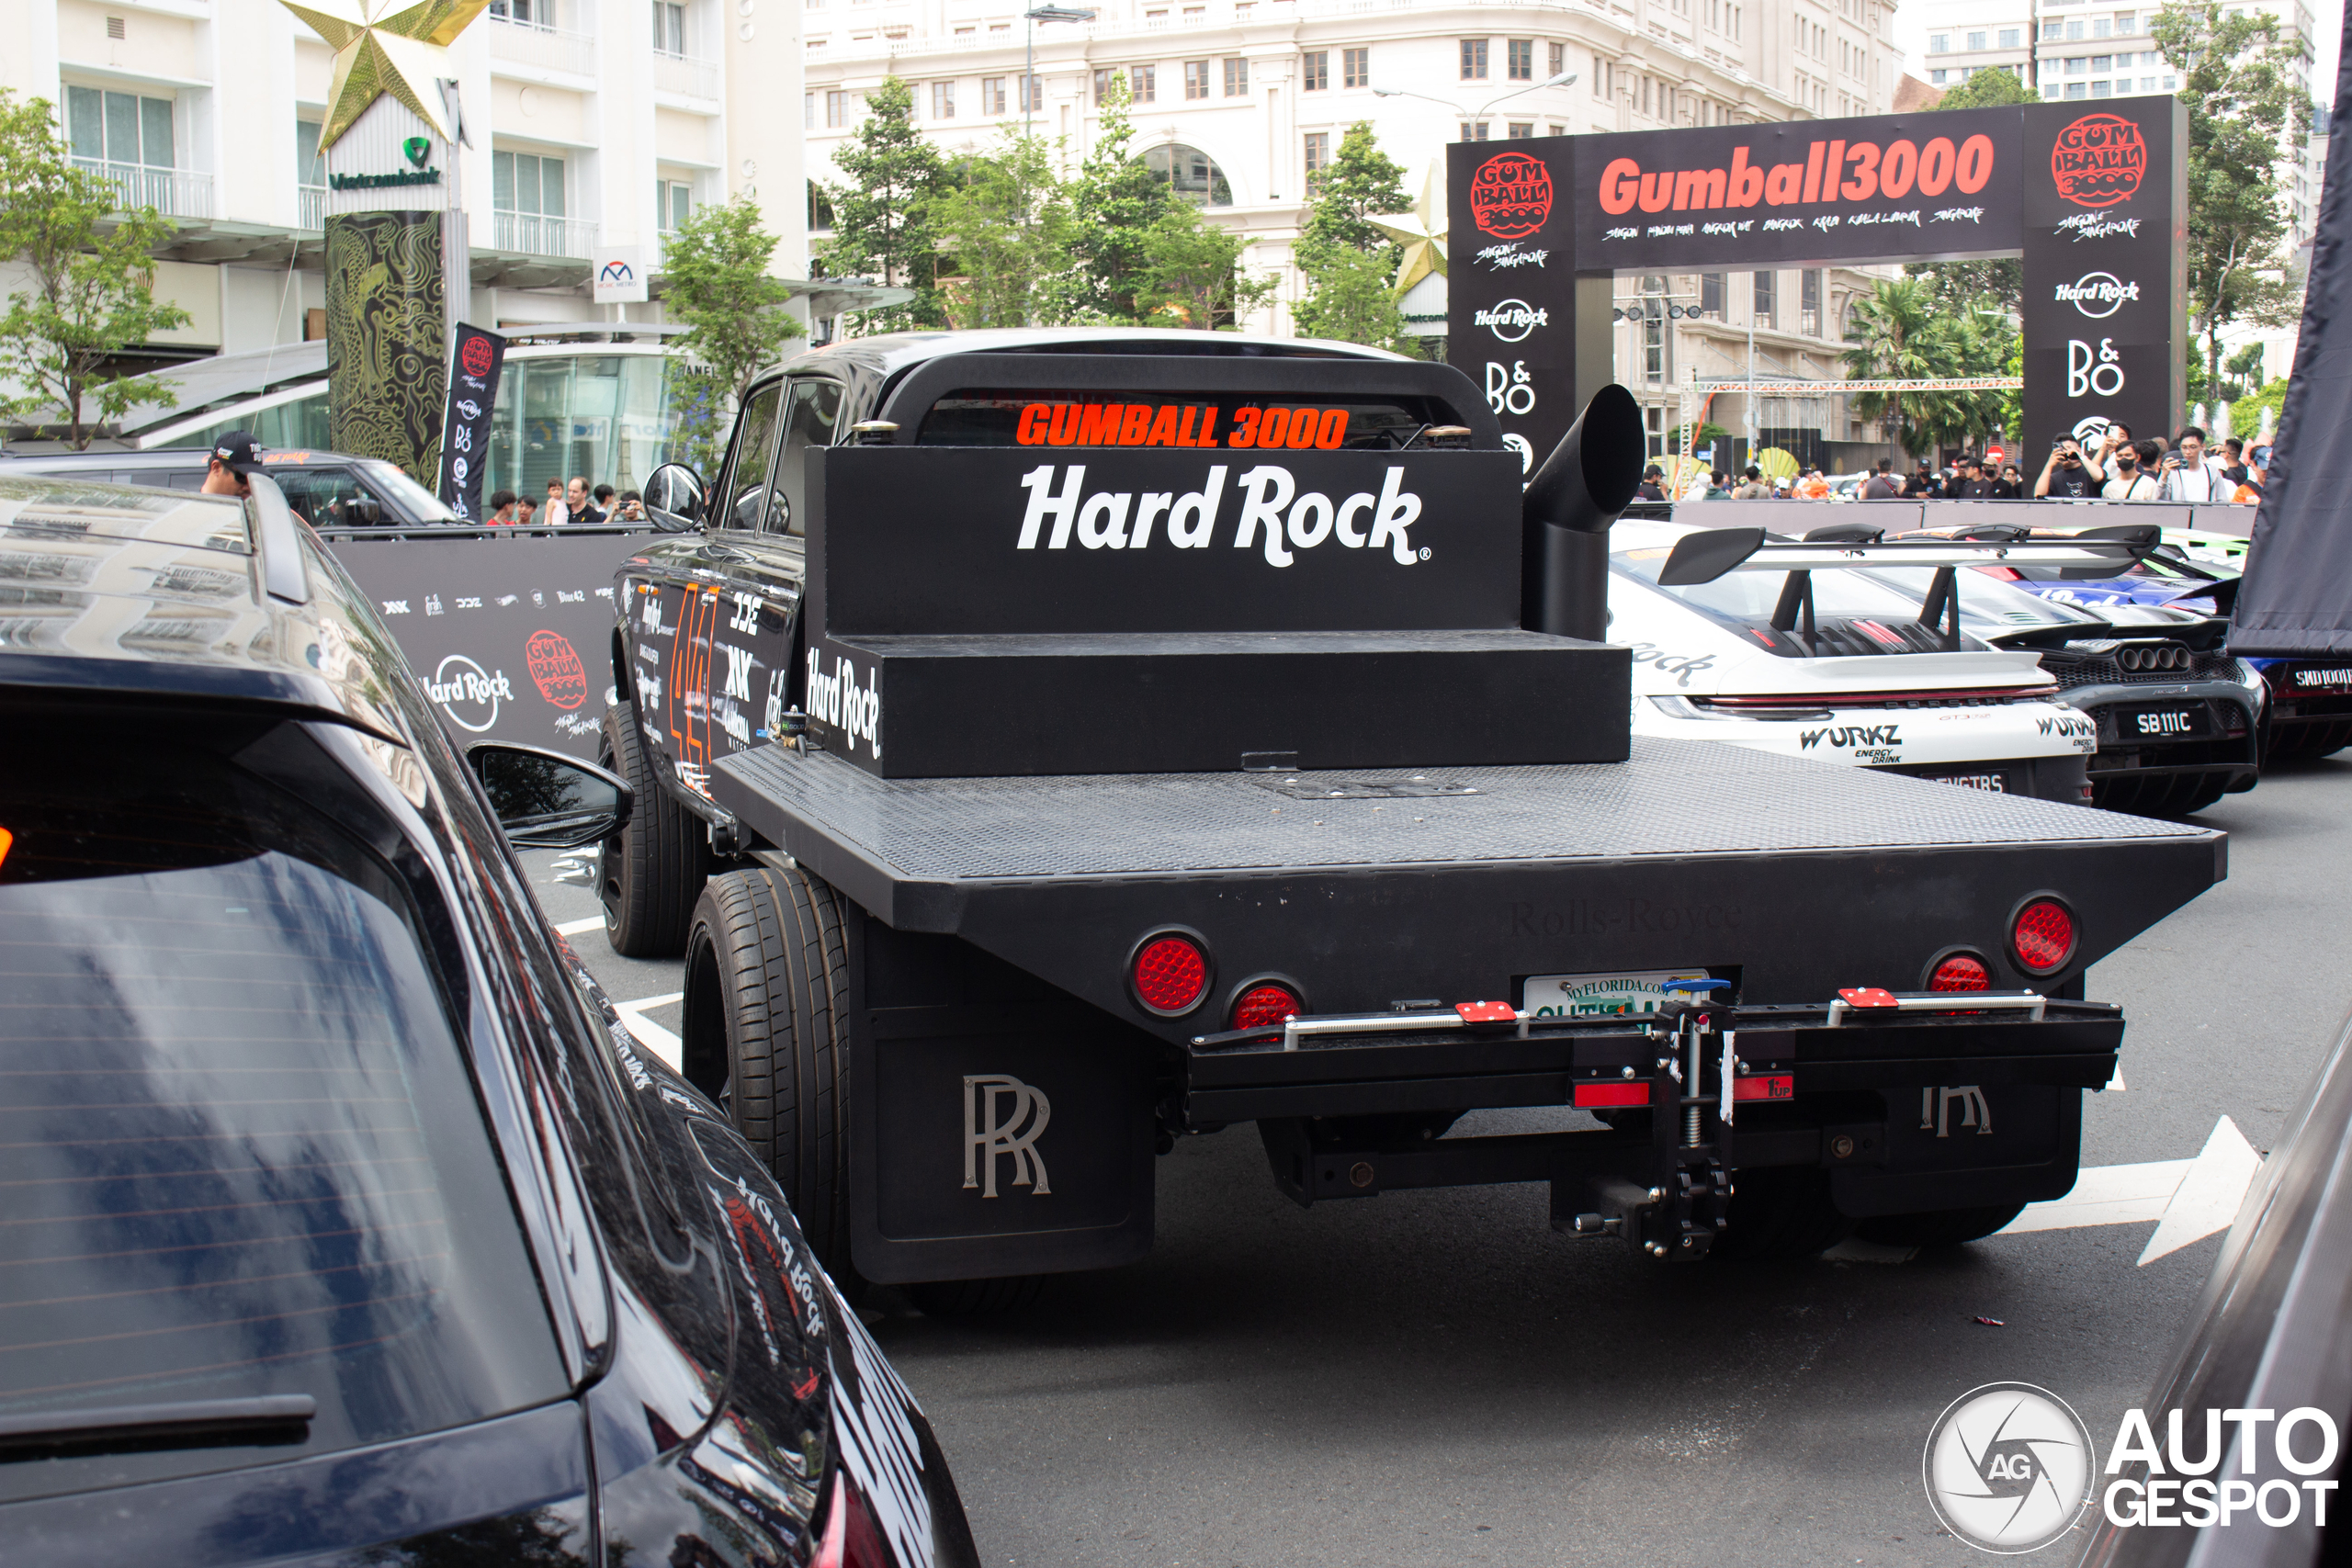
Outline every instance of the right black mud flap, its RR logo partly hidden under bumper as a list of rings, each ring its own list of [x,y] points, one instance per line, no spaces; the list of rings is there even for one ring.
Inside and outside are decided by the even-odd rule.
[[[2039,1204],[2074,1187],[2082,1088],[1929,1084],[1884,1098],[1886,1121],[1870,1138],[1825,1140],[1830,1199],[1844,1215]]]

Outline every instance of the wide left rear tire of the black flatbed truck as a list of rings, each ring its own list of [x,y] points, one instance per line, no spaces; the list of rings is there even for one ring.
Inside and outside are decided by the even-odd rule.
[[[776,1175],[809,1251],[849,1274],[849,990],[842,907],[828,882],[767,865],[713,877],[687,931],[680,1046],[689,1081]]]

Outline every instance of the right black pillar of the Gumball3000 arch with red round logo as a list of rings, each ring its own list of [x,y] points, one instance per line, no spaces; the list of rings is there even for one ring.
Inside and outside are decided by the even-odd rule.
[[[2171,435],[2180,418],[2187,136],[2171,96],[2025,108],[2027,477],[2060,435]]]

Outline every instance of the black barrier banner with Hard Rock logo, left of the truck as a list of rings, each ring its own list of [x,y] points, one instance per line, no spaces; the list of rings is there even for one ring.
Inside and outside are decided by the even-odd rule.
[[[595,762],[612,686],[612,578],[642,534],[336,538],[449,738]]]

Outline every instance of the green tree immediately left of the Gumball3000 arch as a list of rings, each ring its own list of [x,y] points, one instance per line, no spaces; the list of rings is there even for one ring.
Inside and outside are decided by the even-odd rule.
[[[1421,343],[1397,308],[1395,275],[1404,247],[1371,223],[1406,207],[1404,169],[1374,141],[1371,122],[1357,120],[1341,136],[1331,165],[1315,172],[1308,221],[1291,247],[1308,284],[1305,299],[1291,306],[1298,336],[1421,357]]]

